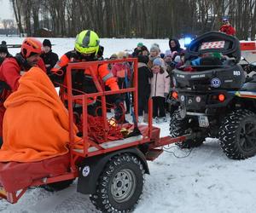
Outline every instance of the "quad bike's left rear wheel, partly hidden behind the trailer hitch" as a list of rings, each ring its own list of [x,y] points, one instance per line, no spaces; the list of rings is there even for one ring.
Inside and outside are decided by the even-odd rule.
[[[176,111],[171,116],[169,129],[171,137],[177,137],[188,134],[189,131],[195,131],[196,127],[198,127],[197,121],[188,117],[177,118],[177,113],[178,112]],[[203,141],[205,141],[205,134],[202,133],[202,135],[199,137],[177,143],[177,146],[181,148],[200,147]]]

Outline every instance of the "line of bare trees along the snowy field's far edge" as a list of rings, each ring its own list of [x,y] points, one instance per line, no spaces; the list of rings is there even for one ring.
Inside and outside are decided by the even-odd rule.
[[[223,16],[236,36],[256,34],[256,0],[9,0],[19,31],[56,37],[92,29],[101,37],[181,37],[218,30]]]

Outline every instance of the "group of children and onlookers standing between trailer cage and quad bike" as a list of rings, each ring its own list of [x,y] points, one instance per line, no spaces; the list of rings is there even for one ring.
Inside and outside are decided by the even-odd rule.
[[[148,99],[153,100],[154,122],[166,122],[166,99],[172,87],[171,71],[183,65],[184,50],[176,38],[169,41],[170,49],[160,51],[158,43],[148,48],[137,43],[132,54],[119,52],[110,56],[110,60],[136,57],[138,60],[138,115],[141,121],[148,122]],[[109,64],[113,76],[117,78],[119,88],[125,89],[132,82],[132,66],[128,62]],[[124,96],[126,112],[130,111],[129,95]]]

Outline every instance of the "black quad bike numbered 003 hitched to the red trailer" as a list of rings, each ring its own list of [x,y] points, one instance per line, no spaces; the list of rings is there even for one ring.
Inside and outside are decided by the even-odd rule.
[[[192,65],[198,57],[200,64]],[[229,158],[255,155],[256,78],[250,73],[256,69],[255,63],[241,66],[240,60],[236,37],[207,32],[190,43],[184,66],[172,76],[172,101],[179,107],[172,114],[170,134],[195,136],[181,147],[198,147],[211,136],[219,139]]]

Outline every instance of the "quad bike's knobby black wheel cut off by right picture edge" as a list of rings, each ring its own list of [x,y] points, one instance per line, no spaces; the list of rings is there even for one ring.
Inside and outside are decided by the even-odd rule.
[[[245,159],[256,154],[256,115],[237,110],[224,118],[219,132],[220,146],[232,159]]]

